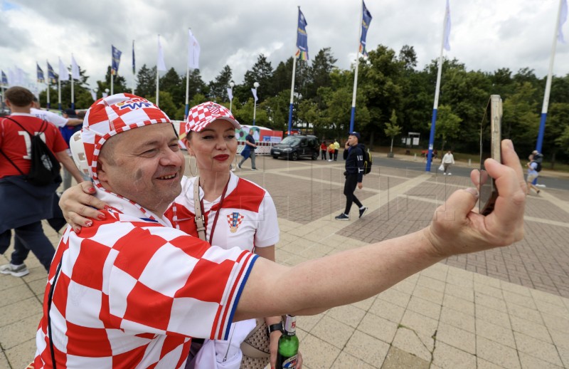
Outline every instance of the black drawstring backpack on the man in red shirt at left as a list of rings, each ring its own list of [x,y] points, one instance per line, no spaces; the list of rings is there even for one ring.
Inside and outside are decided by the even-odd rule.
[[[30,171],[26,175],[26,181],[34,186],[47,186],[54,183],[59,177],[61,166],[59,165],[59,161],[55,158],[55,155],[53,155],[53,152],[49,150],[46,142],[43,142],[41,139],[41,134],[48,128],[48,123],[44,120],[41,124],[40,132],[36,135],[32,135],[26,128],[23,128],[20,123],[16,122],[16,120],[8,117],[6,117],[6,119],[19,125],[20,128],[26,131],[30,136],[31,166]],[[18,168],[4,152],[2,152],[2,155],[16,167],[18,172],[24,175],[20,168]]]

